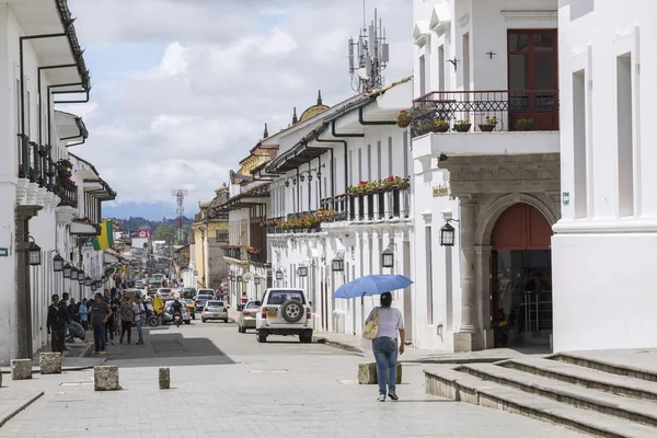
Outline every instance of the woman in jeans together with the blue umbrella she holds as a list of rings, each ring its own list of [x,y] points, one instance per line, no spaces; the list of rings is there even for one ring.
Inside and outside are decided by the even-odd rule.
[[[413,281],[403,275],[368,275],[341,286],[333,293],[333,298],[360,298],[361,306],[365,304],[364,297],[381,295],[381,306],[373,308],[367,316],[364,331],[365,337],[372,339],[372,350],[377,360],[379,402],[384,402],[385,395],[391,400],[397,400],[397,350],[400,355],[404,354],[406,341],[402,311],[392,307],[390,290],[405,289],[412,284]]]

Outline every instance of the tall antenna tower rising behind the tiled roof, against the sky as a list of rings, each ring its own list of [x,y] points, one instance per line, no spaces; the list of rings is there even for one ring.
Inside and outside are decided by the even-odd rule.
[[[383,21],[378,18],[374,9],[374,20],[367,25],[362,0],[362,28],[358,41],[349,38],[349,73],[354,91],[364,93],[383,87],[383,70],[388,67],[389,54],[390,46],[385,39]]]

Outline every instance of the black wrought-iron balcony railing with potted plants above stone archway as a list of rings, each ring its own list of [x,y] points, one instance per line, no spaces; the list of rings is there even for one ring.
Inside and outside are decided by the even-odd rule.
[[[435,91],[414,101],[413,137],[449,130],[558,130],[558,90]]]

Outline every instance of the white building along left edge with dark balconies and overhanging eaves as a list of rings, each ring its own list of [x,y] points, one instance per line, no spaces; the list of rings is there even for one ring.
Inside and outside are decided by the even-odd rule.
[[[89,72],[66,0],[0,1],[0,364],[31,357],[47,341],[50,296],[74,290],[54,272],[58,253],[76,257],[85,184],[69,168],[67,147],[84,142],[79,117],[55,112],[87,101]],[[70,174],[69,174],[70,172]],[[66,174],[66,175],[65,175]],[[84,204],[81,203],[84,208]],[[28,247],[42,263],[30,266]]]

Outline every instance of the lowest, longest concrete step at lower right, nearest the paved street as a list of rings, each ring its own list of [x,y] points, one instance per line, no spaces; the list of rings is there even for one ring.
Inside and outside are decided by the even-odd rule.
[[[425,369],[428,394],[477,404],[565,426],[604,438],[654,438],[657,429],[595,411],[573,407],[540,395],[485,381],[457,371],[453,365]]]

